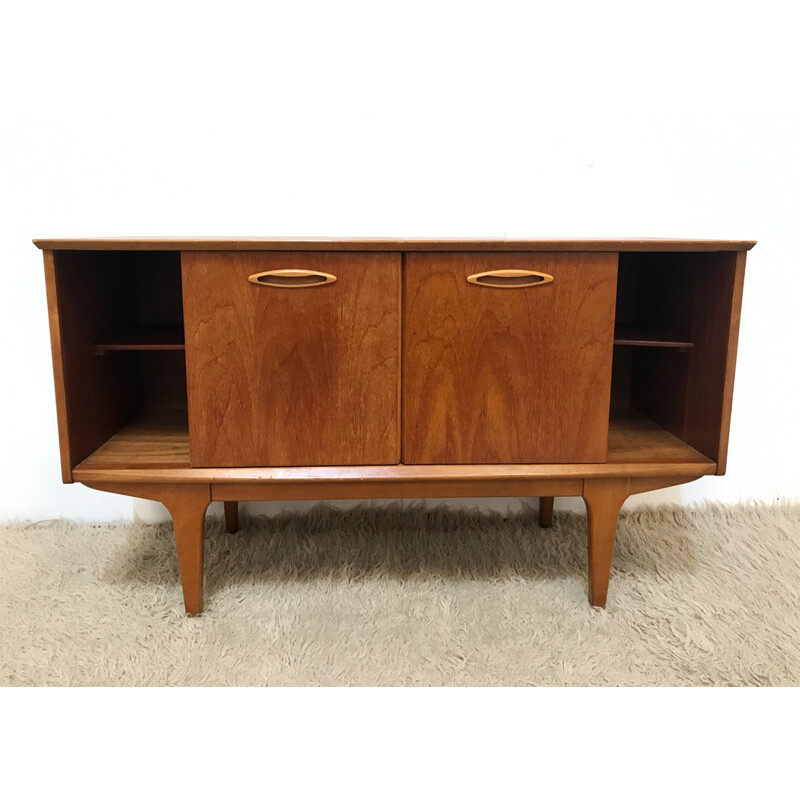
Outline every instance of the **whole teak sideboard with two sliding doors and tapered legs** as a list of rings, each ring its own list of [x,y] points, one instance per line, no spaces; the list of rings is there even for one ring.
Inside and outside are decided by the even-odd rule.
[[[58,239],[62,477],[160,500],[186,612],[213,500],[583,497],[725,472],[755,242]]]

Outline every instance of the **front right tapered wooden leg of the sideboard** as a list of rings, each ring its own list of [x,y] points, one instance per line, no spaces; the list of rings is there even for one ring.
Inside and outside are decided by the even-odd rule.
[[[606,607],[617,517],[629,495],[627,478],[597,478],[583,483],[589,518],[589,602],[598,608]]]

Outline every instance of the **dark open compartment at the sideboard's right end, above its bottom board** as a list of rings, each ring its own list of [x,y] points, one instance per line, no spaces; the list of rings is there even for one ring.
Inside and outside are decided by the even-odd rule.
[[[638,412],[719,461],[735,252],[620,253],[612,415]]]

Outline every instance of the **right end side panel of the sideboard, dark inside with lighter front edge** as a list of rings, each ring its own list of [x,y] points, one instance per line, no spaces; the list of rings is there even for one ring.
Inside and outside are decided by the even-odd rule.
[[[717,462],[724,475],[746,255],[717,253],[696,268],[695,346],[689,363],[685,441]]]

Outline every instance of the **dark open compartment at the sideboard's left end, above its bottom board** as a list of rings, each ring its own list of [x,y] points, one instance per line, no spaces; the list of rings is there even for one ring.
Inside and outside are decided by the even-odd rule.
[[[185,428],[180,253],[67,250],[54,259],[71,466],[137,417]]]

